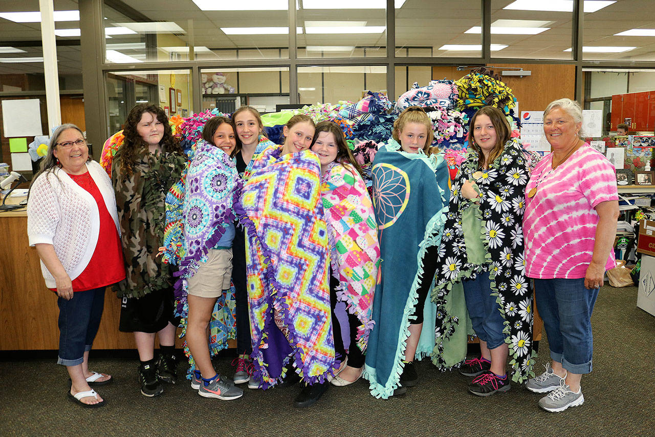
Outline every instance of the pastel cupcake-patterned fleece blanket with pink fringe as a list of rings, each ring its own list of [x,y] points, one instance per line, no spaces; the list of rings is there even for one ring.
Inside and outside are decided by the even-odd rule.
[[[373,329],[371,311],[380,266],[380,245],[373,203],[366,184],[351,166],[332,163],[323,177],[323,207],[330,236],[332,272],[339,279],[337,298],[355,314],[357,346],[364,352]]]

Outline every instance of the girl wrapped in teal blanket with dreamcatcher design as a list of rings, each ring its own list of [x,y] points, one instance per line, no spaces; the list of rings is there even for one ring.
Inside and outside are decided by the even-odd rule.
[[[364,376],[379,398],[403,394],[419,377],[413,361],[434,348],[434,282],[445,211],[448,167],[431,148],[432,122],[410,106],[373,161],[373,202],[382,264]],[[423,325],[426,325],[425,327]]]

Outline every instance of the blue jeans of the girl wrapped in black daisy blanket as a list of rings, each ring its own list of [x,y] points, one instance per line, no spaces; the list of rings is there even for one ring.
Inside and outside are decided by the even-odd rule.
[[[475,279],[464,280],[462,285],[468,316],[477,337],[485,341],[489,349],[505,344],[505,335],[502,333],[505,320],[500,314],[500,304],[491,295],[489,272],[481,272]]]

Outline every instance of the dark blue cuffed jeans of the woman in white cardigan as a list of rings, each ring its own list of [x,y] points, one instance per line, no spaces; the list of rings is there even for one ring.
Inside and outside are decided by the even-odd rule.
[[[105,288],[76,291],[70,301],[57,299],[59,306],[59,357],[57,364],[78,365],[91,350],[105,307]]]

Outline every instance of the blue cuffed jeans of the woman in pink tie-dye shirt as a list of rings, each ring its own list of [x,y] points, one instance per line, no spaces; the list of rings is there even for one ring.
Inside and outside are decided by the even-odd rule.
[[[534,280],[536,308],[544,320],[550,358],[571,373],[591,373],[591,312],[598,289],[584,278]]]

